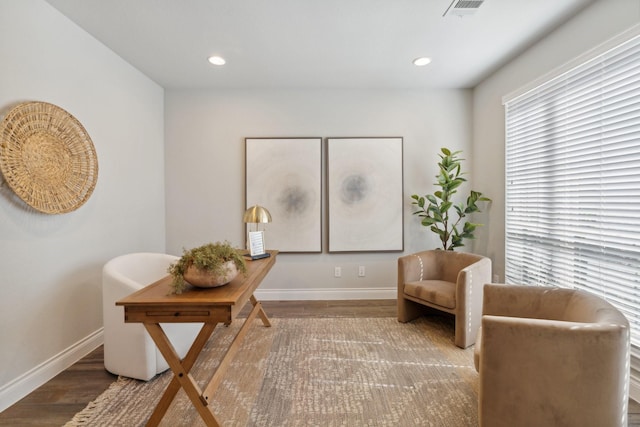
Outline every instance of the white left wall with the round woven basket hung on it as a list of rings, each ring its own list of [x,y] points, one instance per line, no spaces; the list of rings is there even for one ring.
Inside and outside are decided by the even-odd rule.
[[[0,115],[46,101],[95,145],[80,209],[45,215],[0,186],[0,410],[101,344],[101,268],[163,251],[163,89],[42,0],[0,2]],[[1,181],[1,180],[0,180]]]

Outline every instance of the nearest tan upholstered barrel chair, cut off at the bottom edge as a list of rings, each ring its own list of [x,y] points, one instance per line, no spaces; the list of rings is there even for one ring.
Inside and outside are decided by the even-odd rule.
[[[629,345],[629,322],[596,295],[485,286],[480,426],[626,426]]]

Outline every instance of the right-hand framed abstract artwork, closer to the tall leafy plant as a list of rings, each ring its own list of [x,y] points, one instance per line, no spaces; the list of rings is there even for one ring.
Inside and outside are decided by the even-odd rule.
[[[403,250],[402,138],[328,138],[329,252]]]

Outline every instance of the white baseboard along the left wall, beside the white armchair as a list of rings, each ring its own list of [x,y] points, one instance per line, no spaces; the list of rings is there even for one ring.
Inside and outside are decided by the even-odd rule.
[[[49,360],[0,387],[0,412],[91,353],[103,342],[103,330],[100,328]]]

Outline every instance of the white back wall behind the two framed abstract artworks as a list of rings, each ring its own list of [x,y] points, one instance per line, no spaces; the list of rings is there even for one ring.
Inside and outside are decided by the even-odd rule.
[[[471,156],[465,90],[168,90],[165,104],[167,250],[177,255],[208,241],[243,246],[246,137],[403,137],[405,253],[438,246],[412,216],[409,196],[433,192],[439,148]],[[261,298],[395,297],[400,253],[328,254],[326,243],[322,254],[279,256]]]

